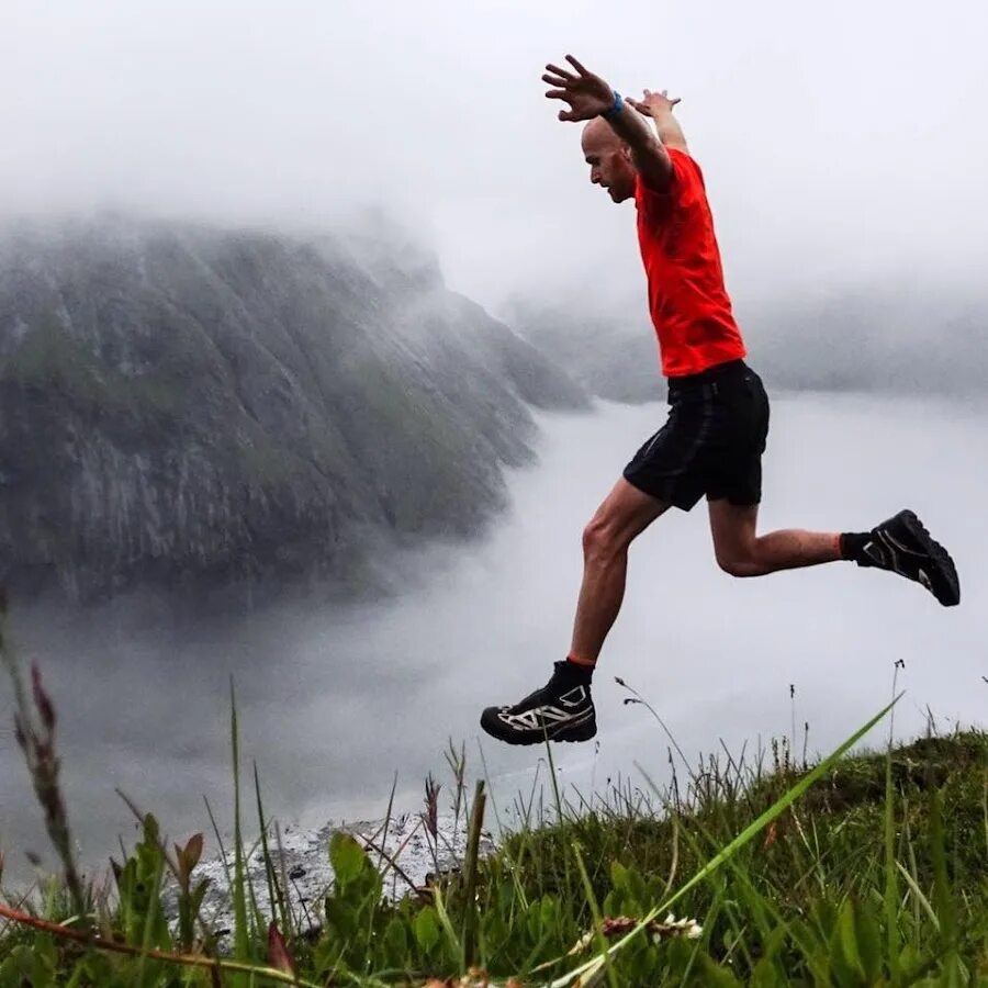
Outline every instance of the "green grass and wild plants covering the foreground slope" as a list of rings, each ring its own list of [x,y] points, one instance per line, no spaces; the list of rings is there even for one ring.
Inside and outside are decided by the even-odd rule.
[[[247,877],[232,696],[235,922],[221,940],[202,916],[197,868],[209,841],[200,834],[168,849],[155,817],[134,807],[143,835],[113,863],[112,883],[79,876],[54,706],[37,671],[29,691],[3,655],[63,875],[0,905],[0,988],[988,984],[980,731],[857,749],[889,705],[812,765],[797,764],[784,741],[754,759],[725,751],[693,767],[671,751],[666,788],[642,773],[641,786],[596,794],[553,783],[548,807],[519,795],[524,822],[487,856],[478,846],[496,804],[483,781],[469,798],[463,752],[451,749],[454,810],[469,820],[462,867],[393,900],[383,839],[379,847],[336,833],[326,849],[333,883],[306,907],[285,882],[256,772],[265,887]],[[548,756],[551,766],[551,746]],[[423,829],[437,840],[431,777],[427,791]]]

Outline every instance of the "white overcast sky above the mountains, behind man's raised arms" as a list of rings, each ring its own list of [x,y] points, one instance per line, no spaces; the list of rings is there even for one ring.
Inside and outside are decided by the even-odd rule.
[[[986,37],[980,0],[3,0],[0,207],[294,226],[382,201],[494,307],[636,285],[633,206],[543,97],[570,52],[683,98],[736,293],[975,283]]]

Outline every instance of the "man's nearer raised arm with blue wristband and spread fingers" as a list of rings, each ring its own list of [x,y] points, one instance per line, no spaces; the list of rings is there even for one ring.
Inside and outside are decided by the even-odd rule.
[[[645,184],[658,192],[669,189],[672,162],[640,112],[629,106],[604,79],[587,71],[572,55],[566,55],[566,61],[576,70],[575,74],[547,65],[542,76],[544,82],[555,87],[546,96],[570,104],[569,110],[560,110],[559,119],[580,121],[603,116],[628,145],[635,170]]]

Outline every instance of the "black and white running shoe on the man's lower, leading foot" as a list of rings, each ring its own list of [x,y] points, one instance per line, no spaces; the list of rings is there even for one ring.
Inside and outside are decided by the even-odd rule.
[[[514,707],[487,707],[481,727],[508,744],[590,741],[597,733],[597,716],[590,683],[580,683],[557,662],[552,678]]]

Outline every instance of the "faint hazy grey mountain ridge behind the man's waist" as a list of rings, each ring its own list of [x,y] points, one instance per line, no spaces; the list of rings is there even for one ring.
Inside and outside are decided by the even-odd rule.
[[[641,305],[644,301],[641,300]],[[635,303],[514,300],[508,318],[586,390],[621,402],[664,400],[655,336]],[[749,360],[777,388],[890,394],[981,394],[988,299],[917,283],[849,285],[737,306]]]

